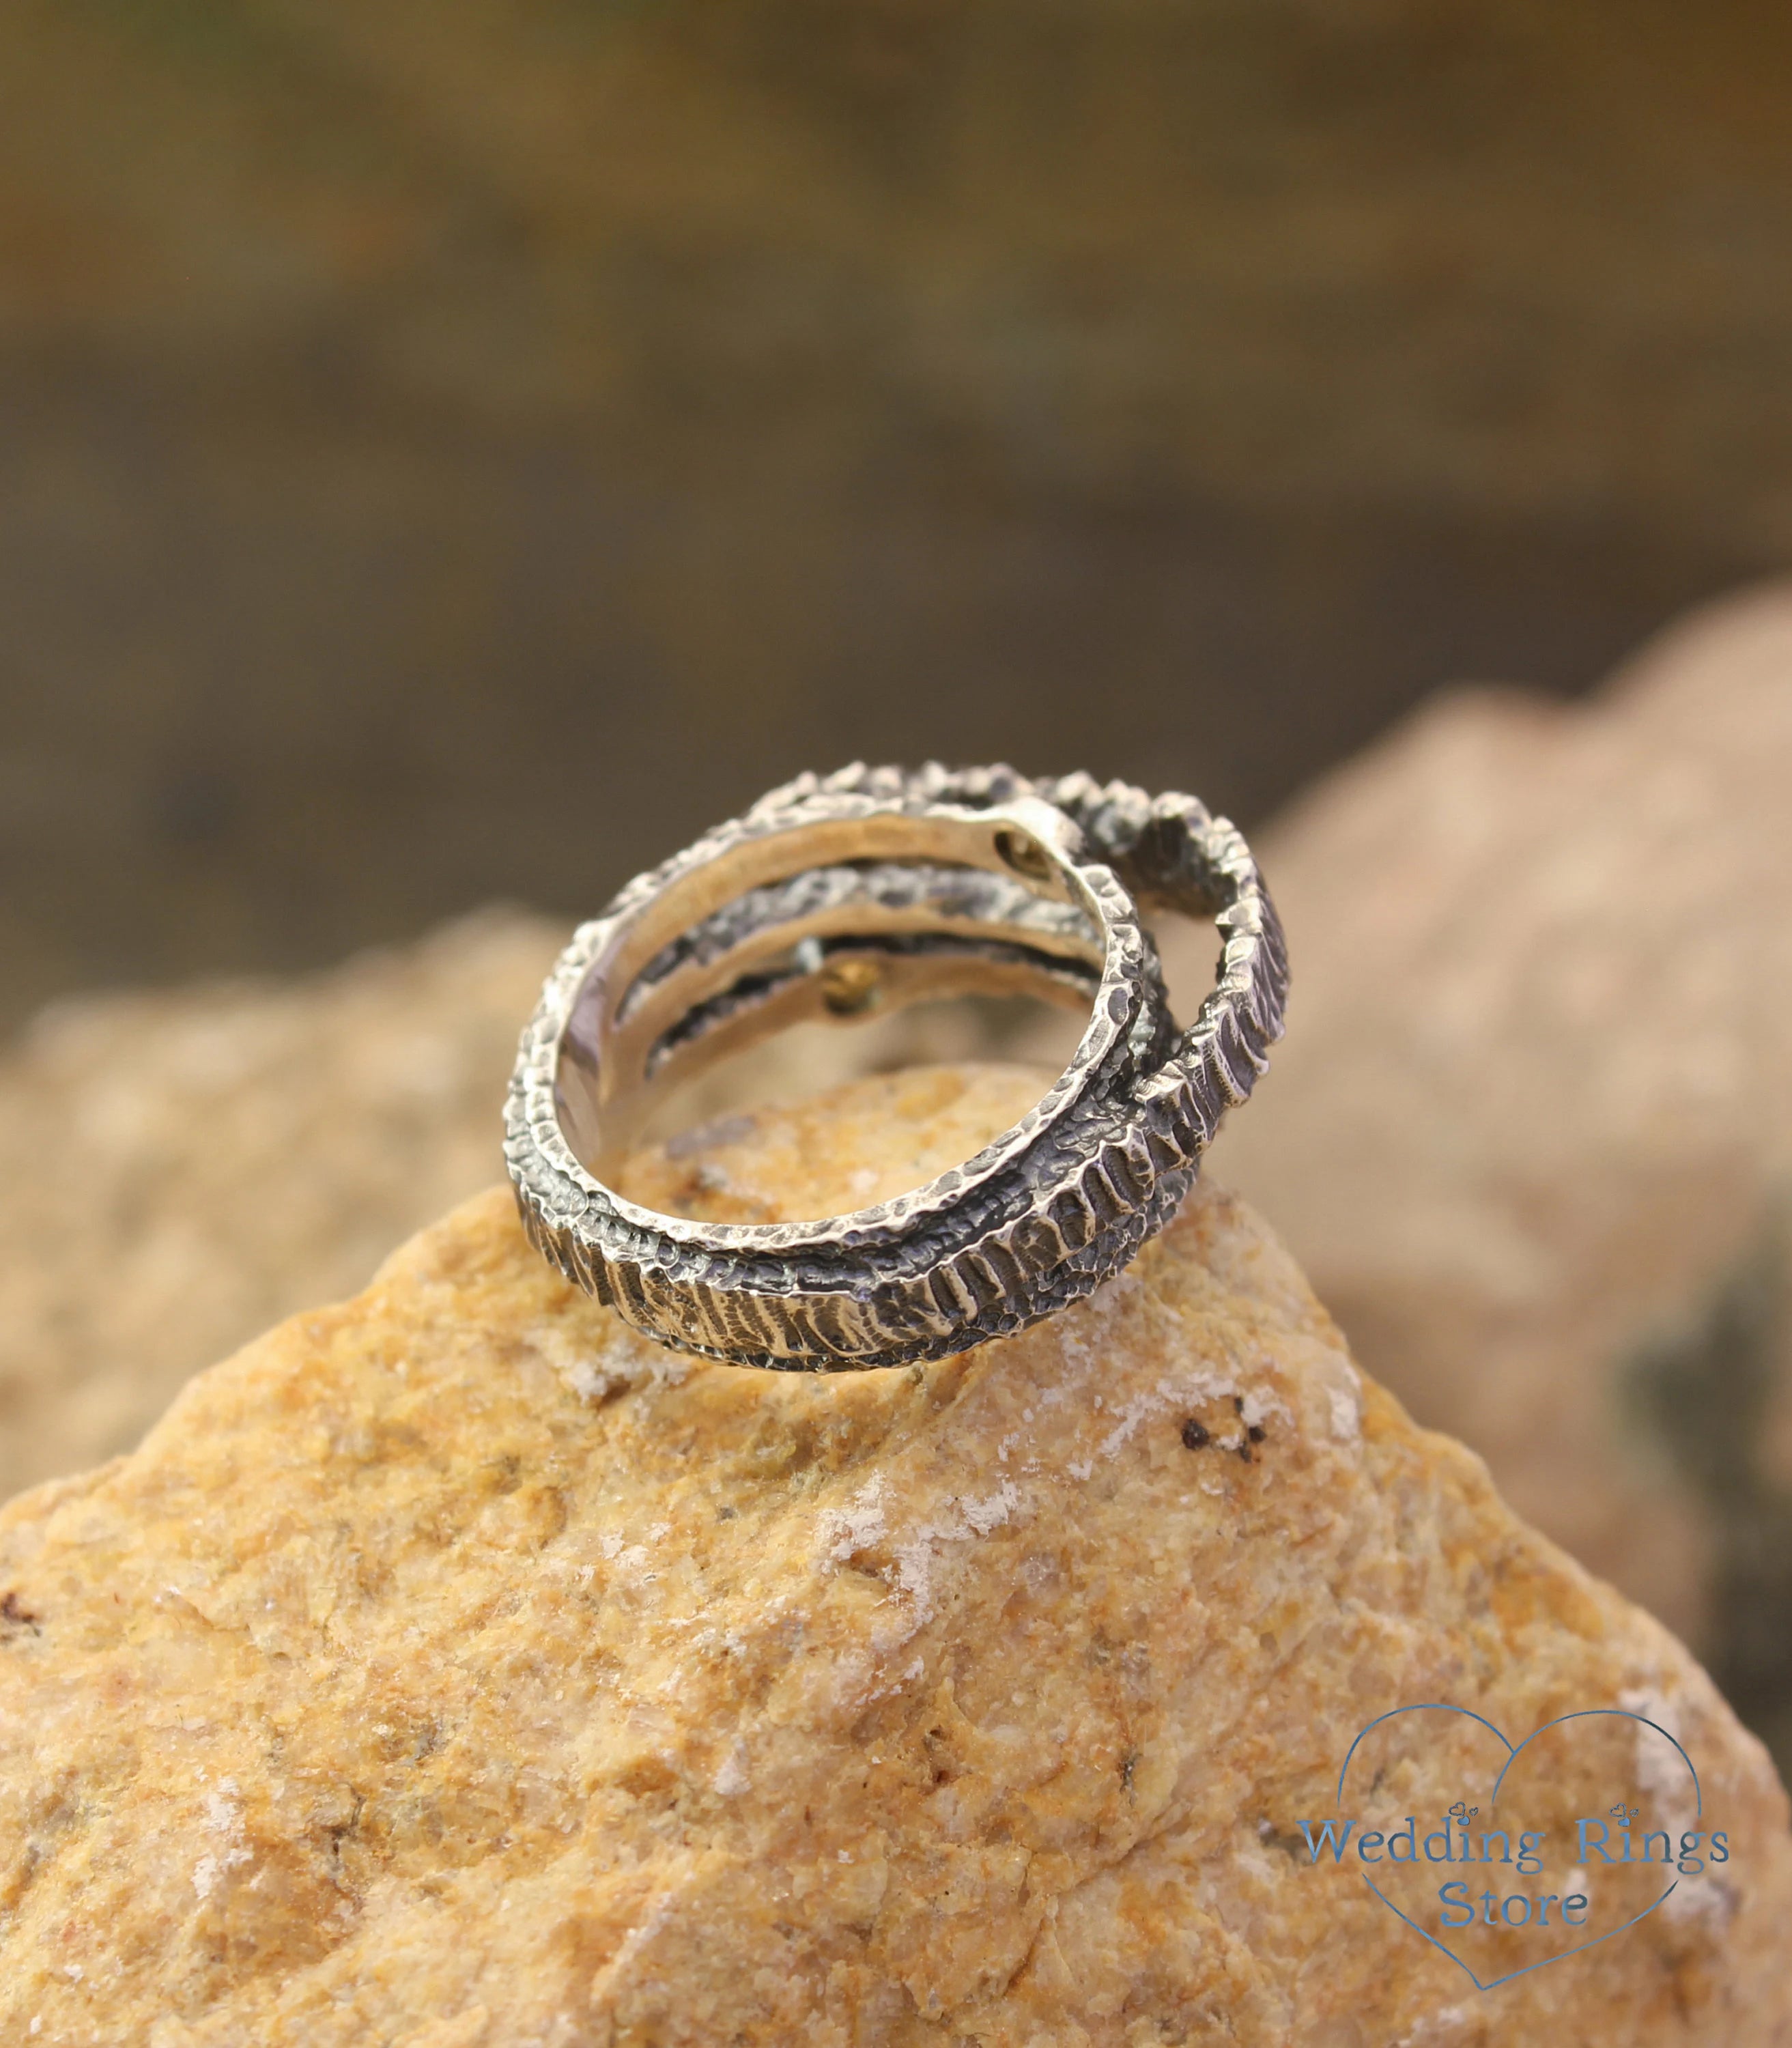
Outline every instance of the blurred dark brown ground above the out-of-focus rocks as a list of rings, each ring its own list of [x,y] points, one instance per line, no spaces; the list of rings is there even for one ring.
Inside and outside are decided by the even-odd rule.
[[[1792,557],[1788,115],[1763,0],[12,0],[0,1018],[1581,688]]]

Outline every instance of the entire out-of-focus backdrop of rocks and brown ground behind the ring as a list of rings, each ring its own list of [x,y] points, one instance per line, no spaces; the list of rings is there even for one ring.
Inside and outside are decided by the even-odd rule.
[[[8,0],[0,1491],[494,1180],[637,868],[1081,766],[1288,920],[1217,1171],[1792,1761],[1788,569],[1774,0]]]

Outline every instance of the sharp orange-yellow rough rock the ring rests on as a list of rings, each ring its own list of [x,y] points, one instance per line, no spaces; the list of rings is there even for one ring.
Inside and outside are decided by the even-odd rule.
[[[1036,1085],[856,1083],[635,1188],[836,1206]],[[14,1501],[0,1634],[6,2042],[1792,2038],[1759,1745],[1212,1186],[1096,1300],[846,1378],[641,1343],[494,1190]],[[1477,1995],[1296,1833],[1413,1700],[1645,1708],[1731,1864]],[[1561,1798],[1651,1800],[1630,1747]]]

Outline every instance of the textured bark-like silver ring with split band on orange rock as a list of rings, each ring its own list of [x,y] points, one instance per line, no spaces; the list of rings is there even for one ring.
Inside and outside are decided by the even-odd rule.
[[[1139,907],[1210,915],[1169,1016]],[[809,1223],[698,1223],[614,1178],[653,1102],[799,1018],[961,991],[1090,1010],[1018,1124],[924,1188]],[[1288,958],[1233,825],[1073,774],[799,776],[580,926],[522,1032],[504,1155],[569,1280],[680,1352],[856,1370],[946,1358],[1094,1292],[1163,1229],[1282,1034]]]

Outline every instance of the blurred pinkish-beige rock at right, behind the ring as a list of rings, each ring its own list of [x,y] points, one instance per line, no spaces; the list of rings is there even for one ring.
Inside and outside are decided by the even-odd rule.
[[[1583,707],[1442,696],[1264,846],[1290,1030],[1214,1155],[1364,1362],[1782,1763],[1788,791],[1784,588]]]

